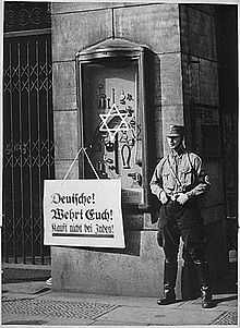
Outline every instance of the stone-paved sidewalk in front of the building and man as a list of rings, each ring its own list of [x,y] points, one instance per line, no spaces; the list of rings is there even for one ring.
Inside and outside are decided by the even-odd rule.
[[[46,281],[2,283],[2,326],[183,326],[238,324],[236,292],[214,294],[215,307],[201,300],[159,306],[155,297],[57,292]]]

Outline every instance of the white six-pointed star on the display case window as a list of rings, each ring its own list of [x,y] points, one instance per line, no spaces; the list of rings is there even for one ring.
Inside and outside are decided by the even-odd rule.
[[[125,118],[128,117],[128,113],[121,113],[113,104],[106,114],[99,114],[103,123],[99,127],[99,131],[107,132],[109,134],[110,141],[115,141],[115,136],[120,131],[129,131],[130,126],[128,122],[125,121]],[[112,126],[111,126],[112,125]]]

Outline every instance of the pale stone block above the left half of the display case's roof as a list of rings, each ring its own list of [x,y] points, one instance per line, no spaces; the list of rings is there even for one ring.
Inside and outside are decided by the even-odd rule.
[[[111,10],[52,16],[52,60],[74,60],[75,53],[112,34]]]

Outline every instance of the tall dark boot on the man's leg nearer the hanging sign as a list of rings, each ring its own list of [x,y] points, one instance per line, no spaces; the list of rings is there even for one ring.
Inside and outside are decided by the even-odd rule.
[[[167,305],[176,302],[175,286],[178,272],[178,263],[165,262],[164,271],[164,299],[158,299],[158,305]]]

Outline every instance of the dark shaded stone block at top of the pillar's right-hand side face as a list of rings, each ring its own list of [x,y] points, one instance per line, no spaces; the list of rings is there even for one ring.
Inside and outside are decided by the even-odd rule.
[[[187,5],[180,7],[180,15],[182,51],[217,59],[214,16]]]

